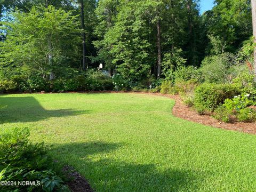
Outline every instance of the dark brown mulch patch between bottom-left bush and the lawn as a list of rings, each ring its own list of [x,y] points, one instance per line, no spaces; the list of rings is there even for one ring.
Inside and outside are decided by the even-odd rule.
[[[73,167],[67,165],[62,170],[67,175],[69,181],[66,184],[72,192],[94,192],[88,181],[77,173]]]

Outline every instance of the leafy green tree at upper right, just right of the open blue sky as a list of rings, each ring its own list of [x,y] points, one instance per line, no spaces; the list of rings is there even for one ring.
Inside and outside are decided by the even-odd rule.
[[[227,52],[235,53],[252,34],[249,0],[215,0],[215,6],[204,14],[208,35],[219,36]]]

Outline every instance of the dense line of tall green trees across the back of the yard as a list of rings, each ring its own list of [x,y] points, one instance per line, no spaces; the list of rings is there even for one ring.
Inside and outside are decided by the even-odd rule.
[[[83,90],[88,78],[101,76],[100,63],[109,76],[122,76],[117,84],[149,86],[173,79],[180,67],[201,67],[209,57],[236,54],[251,43],[250,1],[217,0],[202,15],[199,5],[196,0],[2,0],[1,87],[51,90],[56,81],[60,90],[69,85],[66,90]],[[250,62],[251,49],[243,54]],[[78,86],[81,82],[86,85]]]

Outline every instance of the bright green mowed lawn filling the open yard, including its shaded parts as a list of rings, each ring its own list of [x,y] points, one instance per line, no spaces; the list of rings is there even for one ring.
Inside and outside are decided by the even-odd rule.
[[[96,191],[256,191],[256,136],[188,122],[143,94],[0,97],[0,127],[74,166]]]

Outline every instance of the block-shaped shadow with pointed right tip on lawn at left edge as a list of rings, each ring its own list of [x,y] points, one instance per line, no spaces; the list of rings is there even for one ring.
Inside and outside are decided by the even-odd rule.
[[[0,98],[0,123],[36,122],[50,117],[90,113],[88,110],[45,110],[34,97]]]

